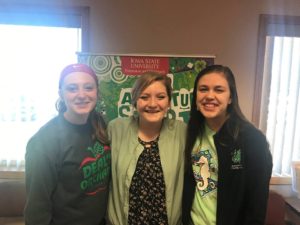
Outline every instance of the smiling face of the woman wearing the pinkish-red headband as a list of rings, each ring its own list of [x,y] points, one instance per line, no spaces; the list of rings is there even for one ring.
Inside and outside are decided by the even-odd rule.
[[[72,72],[64,78],[59,95],[66,105],[66,120],[84,124],[97,103],[97,84],[88,73]]]

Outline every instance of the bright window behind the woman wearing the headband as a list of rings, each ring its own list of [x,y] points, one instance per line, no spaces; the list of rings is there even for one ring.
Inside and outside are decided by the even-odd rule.
[[[86,8],[0,11],[0,171],[23,170],[28,139],[54,117],[61,69],[87,50]]]

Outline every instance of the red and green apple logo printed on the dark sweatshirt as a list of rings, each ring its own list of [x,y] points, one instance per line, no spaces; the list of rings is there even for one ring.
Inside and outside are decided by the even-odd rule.
[[[91,152],[92,156],[85,157],[80,164],[79,169],[83,173],[80,188],[87,195],[95,195],[107,188],[107,179],[110,176],[110,147],[96,142],[93,147],[88,147],[87,151]]]

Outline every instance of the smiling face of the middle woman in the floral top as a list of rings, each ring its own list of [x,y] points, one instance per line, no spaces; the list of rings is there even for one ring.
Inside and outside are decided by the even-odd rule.
[[[162,81],[155,81],[140,94],[136,109],[140,123],[161,124],[170,106],[170,98]]]

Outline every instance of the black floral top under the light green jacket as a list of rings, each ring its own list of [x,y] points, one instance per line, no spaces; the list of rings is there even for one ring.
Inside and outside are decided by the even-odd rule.
[[[160,162],[158,138],[139,142],[139,156],[129,189],[128,224],[167,225],[165,181]]]

